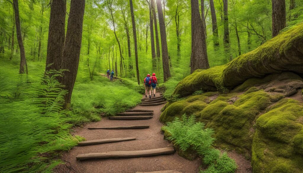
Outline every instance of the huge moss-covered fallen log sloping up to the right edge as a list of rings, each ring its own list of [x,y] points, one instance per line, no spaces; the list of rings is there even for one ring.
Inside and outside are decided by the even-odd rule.
[[[196,70],[184,78],[174,94],[187,96],[197,90],[226,91],[252,77],[284,71],[303,73],[303,23],[290,28],[255,50],[240,55],[227,65]]]

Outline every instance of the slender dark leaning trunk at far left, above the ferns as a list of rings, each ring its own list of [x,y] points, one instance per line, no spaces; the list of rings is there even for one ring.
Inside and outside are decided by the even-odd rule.
[[[14,12],[15,12],[17,40],[18,40],[18,45],[19,45],[19,49],[20,49],[19,73],[22,74],[22,73],[26,72],[26,74],[28,74],[27,65],[26,65],[26,58],[25,58],[25,50],[24,50],[22,35],[21,35],[18,0],[13,0],[13,5],[14,5]],[[25,71],[24,71],[24,66],[25,66]]]

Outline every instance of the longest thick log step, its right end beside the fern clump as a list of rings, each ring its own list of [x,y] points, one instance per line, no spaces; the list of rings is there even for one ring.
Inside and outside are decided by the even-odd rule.
[[[174,154],[175,149],[173,147],[157,148],[151,150],[139,150],[139,151],[109,151],[104,153],[88,153],[77,155],[77,160],[86,160],[92,158],[132,158],[143,157],[163,154]]]

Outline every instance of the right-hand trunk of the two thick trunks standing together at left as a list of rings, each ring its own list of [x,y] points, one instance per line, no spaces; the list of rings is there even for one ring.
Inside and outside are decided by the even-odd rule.
[[[77,77],[81,42],[82,42],[82,27],[83,15],[85,9],[85,0],[71,0],[71,7],[67,22],[67,32],[63,50],[62,69],[68,69],[64,72],[61,78],[62,85],[68,90],[65,95],[64,108],[69,108],[72,91]]]

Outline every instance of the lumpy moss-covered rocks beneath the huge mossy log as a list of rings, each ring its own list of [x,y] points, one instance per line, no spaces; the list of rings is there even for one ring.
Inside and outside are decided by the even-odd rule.
[[[251,157],[254,173],[299,173],[303,168],[303,106],[280,94],[247,89],[260,80],[248,80],[228,94],[206,92],[168,103],[160,121],[194,115],[196,121],[214,129],[216,147]]]

